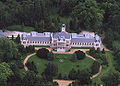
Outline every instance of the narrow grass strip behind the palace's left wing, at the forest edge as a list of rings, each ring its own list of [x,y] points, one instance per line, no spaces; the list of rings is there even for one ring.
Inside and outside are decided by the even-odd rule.
[[[22,28],[21,25],[8,26],[7,29],[11,30],[11,31],[22,31],[22,32],[31,32],[31,31],[34,31],[33,27],[24,26],[24,28]]]

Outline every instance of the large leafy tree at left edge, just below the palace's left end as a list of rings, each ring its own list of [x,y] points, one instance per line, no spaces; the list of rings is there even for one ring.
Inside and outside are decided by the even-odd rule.
[[[1,61],[9,62],[20,59],[16,44],[7,38],[0,38],[0,53]]]

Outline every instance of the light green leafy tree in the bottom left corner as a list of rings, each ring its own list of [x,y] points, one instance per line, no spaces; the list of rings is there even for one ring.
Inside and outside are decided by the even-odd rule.
[[[5,82],[11,75],[13,75],[13,71],[10,66],[5,62],[0,63],[0,83]]]

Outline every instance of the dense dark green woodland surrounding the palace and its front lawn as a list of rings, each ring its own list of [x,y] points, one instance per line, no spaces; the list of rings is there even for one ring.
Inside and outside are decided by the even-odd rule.
[[[21,25],[21,30],[25,26],[30,26],[37,32],[56,32],[60,31],[63,23],[66,24],[68,32],[79,33],[87,30],[102,37],[104,45],[112,51],[117,72],[111,71],[101,80],[105,86],[118,86],[120,84],[119,0],[0,0],[0,28],[3,30],[9,30],[9,26]],[[109,66],[107,59],[104,58],[104,49],[100,51],[91,48],[89,54],[99,59],[99,63],[93,63],[91,71],[72,69],[68,75],[62,76],[57,74],[56,65],[48,63],[40,76],[34,62],[30,62],[26,64],[30,71],[25,72],[22,63],[24,57],[35,50],[34,46],[24,48],[19,44],[19,39],[19,36],[12,40],[0,38],[1,86],[57,86],[57,83],[52,83],[56,75],[58,79],[77,80],[78,82],[73,83],[73,86],[84,84],[91,86],[90,76],[98,72],[96,68],[99,69],[100,64]],[[43,54],[43,58],[46,57],[49,61],[54,60],[52,52],[45,53],[47,54]],[[38,54],[38,56],[41,55]],[[71,60],[76,62],[84,57],[84,53],[78,51],[72,55]]]

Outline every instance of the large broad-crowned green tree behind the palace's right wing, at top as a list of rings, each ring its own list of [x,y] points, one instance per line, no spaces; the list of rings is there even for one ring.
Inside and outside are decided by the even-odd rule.
[[[72,16],[79,19],[82,28],[97,31],[102,26],[104,10],[99,9],[96,0],[85,0],[76,5]]]

